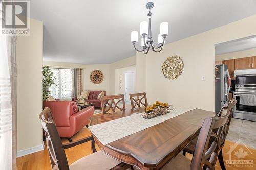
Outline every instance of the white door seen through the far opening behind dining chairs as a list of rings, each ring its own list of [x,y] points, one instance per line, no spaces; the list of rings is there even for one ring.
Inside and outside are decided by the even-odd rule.
[[[135,74],[134,72],[125,72],[125,101],[130,102],[129,94],[134,93],[134,82],[135,82]]]

